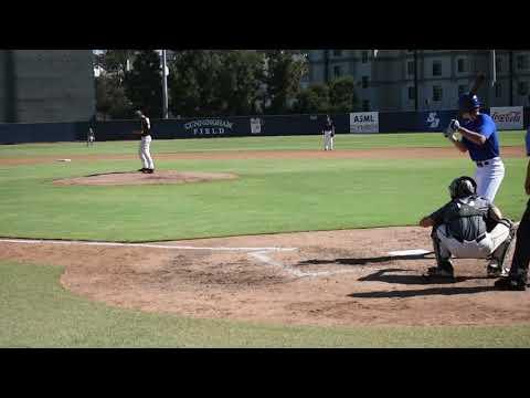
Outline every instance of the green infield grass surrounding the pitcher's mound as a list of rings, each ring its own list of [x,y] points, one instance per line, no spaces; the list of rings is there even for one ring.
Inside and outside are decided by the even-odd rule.
[[[119,148],[119,144],[115,144]],[[526,159],[505,159],[497,205],[519,219]],[[126,171],[136,160],[50,163],[0,169],[0,235],[153,241],[415,224],[473,175],[462,159],[160,160],[157,168],[230,171],[237,180],[80,187],[53,179]]]

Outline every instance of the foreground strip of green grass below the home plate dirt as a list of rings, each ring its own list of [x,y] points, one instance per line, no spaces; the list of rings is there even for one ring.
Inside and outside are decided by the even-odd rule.
[[[530,326],[308,327],[193,320],[89,302],[62,269],[0,262],[0,347],[529,347]]]

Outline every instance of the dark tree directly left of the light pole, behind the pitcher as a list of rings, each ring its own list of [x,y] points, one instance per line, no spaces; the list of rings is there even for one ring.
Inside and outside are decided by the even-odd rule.
[[[153,118],[162,117],[161,72],[159,54],[153,50],[141,50],[124,80],[125,94],[134,107],[144,109]]]

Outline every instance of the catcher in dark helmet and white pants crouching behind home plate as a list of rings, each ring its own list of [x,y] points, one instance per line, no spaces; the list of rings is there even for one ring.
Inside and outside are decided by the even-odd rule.
[[[498,277],[509,244],[515,235],[513,223],[502,218],[500,210],[477,195],[477,184],[470,177],[459,177],[449,185],[451,201],[420,226],[433,227],[432,239],[437,266],[430,268],[426,276],[454,277],[451,256],[460,259],[489,259],[487,274]]]

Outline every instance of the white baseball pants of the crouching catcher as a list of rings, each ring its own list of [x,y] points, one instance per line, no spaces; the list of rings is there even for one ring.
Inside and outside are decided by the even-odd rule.
[[[459,259],[486,259],[508,239],[510,229],[498,223],[491,232],[486,232],[486,237],[480,242],[476,240],[459,242],[446,234],[445,224],[436,229],[436,235],[439,239],[439,254],[443,259],[449,259],[451,254]]]

